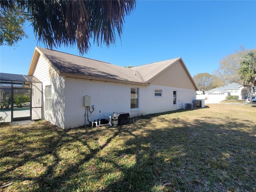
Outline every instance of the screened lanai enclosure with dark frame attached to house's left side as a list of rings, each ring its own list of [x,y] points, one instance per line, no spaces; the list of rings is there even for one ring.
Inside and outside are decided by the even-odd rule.
[[[34,76],[0,73],[0,122],[42,118],[42,82]]]

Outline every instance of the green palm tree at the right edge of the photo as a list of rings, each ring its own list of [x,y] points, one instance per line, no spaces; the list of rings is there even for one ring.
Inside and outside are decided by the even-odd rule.
[[[238,73],[240,74],[241,80],[244,82],[244,86],[248,88],[251,104],[253,89],[256,88],[256,53],[254,51],[246,54],[240,64]]]

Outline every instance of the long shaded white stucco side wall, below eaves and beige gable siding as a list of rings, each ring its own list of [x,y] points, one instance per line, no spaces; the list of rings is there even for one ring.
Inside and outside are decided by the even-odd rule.
[[[64,87],[64,86],[63,86]],[[139,110],[130,109],[130,88],[139,88]],[[162,98],[155,98],[154,90],[162,89]],[[173,105],[173,91],[177,91],[177,105]],[[113,82],[102,82],[76,78],[65,78],[64,128],[74,128],[85,124],[84,96],[91,96],[92,105],[97,108],[89,113],[89,120],[104,118],[104,114],[126,112],[130,116],[140,116],[184,108],[184,104],[196,99],[196,91],[165,86],[135,86]],[[62,127],[63,128],[63,127]]]

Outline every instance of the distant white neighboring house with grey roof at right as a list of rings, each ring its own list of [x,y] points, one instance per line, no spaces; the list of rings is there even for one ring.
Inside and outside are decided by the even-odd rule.
[[[221,87],[217,87],[205,92],[205,96],[208,100],[222,101],[226,99],[226,96],[239,96],[239,99],[246,99],[248,91],[244,86],[238,83],[230,83]]]

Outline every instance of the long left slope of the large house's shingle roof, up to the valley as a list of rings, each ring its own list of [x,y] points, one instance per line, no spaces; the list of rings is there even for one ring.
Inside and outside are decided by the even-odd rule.
[[[130,68],[84,58],[50,49],[38,48],[44,56],[62,73],[110,78],[116,80],[143,82],[139,74]]]

